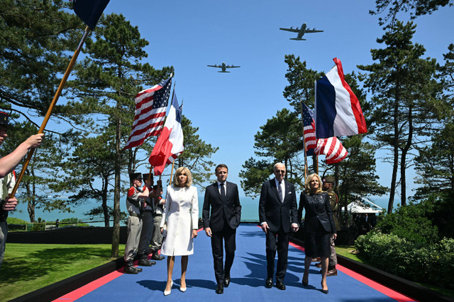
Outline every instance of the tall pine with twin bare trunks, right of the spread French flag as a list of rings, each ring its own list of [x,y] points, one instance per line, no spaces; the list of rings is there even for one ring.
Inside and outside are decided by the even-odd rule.
[[[371,50],[377,63],[358,68],[369,71],[365,87],[372,92],[372,129],[379,146],[392,151],[392,178],[388,212],[394,206],[397,173],[400,167],[401,198],[406,204],[406,168],[409,151],[430,134],[437,121],[438,85],[434,80],[435,61],[421,59],[425,49],[411,39],[416,25],[397,21],[377,42],[386,45]],[[436,124],[433,124],[436,126]]]

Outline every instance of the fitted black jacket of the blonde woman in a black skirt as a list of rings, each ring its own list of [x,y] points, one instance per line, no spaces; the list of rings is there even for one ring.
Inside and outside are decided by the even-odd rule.
[[[321,193],[321,197],[321,199],[311,199],[308,198],[306,193],[301,192],[298,216],[301,218],[304,208],[306,210],[306,214],[304,215],[304,229],[306,232],[316,233],[319,229],[318,220],[325,231],[336,233],[333,211],[331,211],[331,204],[329,203],[329,195],[323,192]]]

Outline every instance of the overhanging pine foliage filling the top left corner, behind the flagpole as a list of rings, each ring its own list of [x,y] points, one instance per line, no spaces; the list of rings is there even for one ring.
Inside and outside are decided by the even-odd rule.
[[[0,108],[45,115],[82,36],[82,21],[62,0],[0,5]],[[61,110],[55,108],[55,114]],[[55,114],[53,115],[55,117]]]

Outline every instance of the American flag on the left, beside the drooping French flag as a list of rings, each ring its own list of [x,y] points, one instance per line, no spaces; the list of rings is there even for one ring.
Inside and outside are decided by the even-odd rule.
[[[147,137],[162,132],[171,86],[172,77],[135,95],[133,129],[123,149],[140,146]]]

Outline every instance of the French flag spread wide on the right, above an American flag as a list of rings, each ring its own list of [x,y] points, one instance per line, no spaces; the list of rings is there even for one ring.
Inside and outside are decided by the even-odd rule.
[[[341,60],[333,59],[333,67],[316,81],[315,129],[317,139],[367,132],[360,102],[345,82]]]

